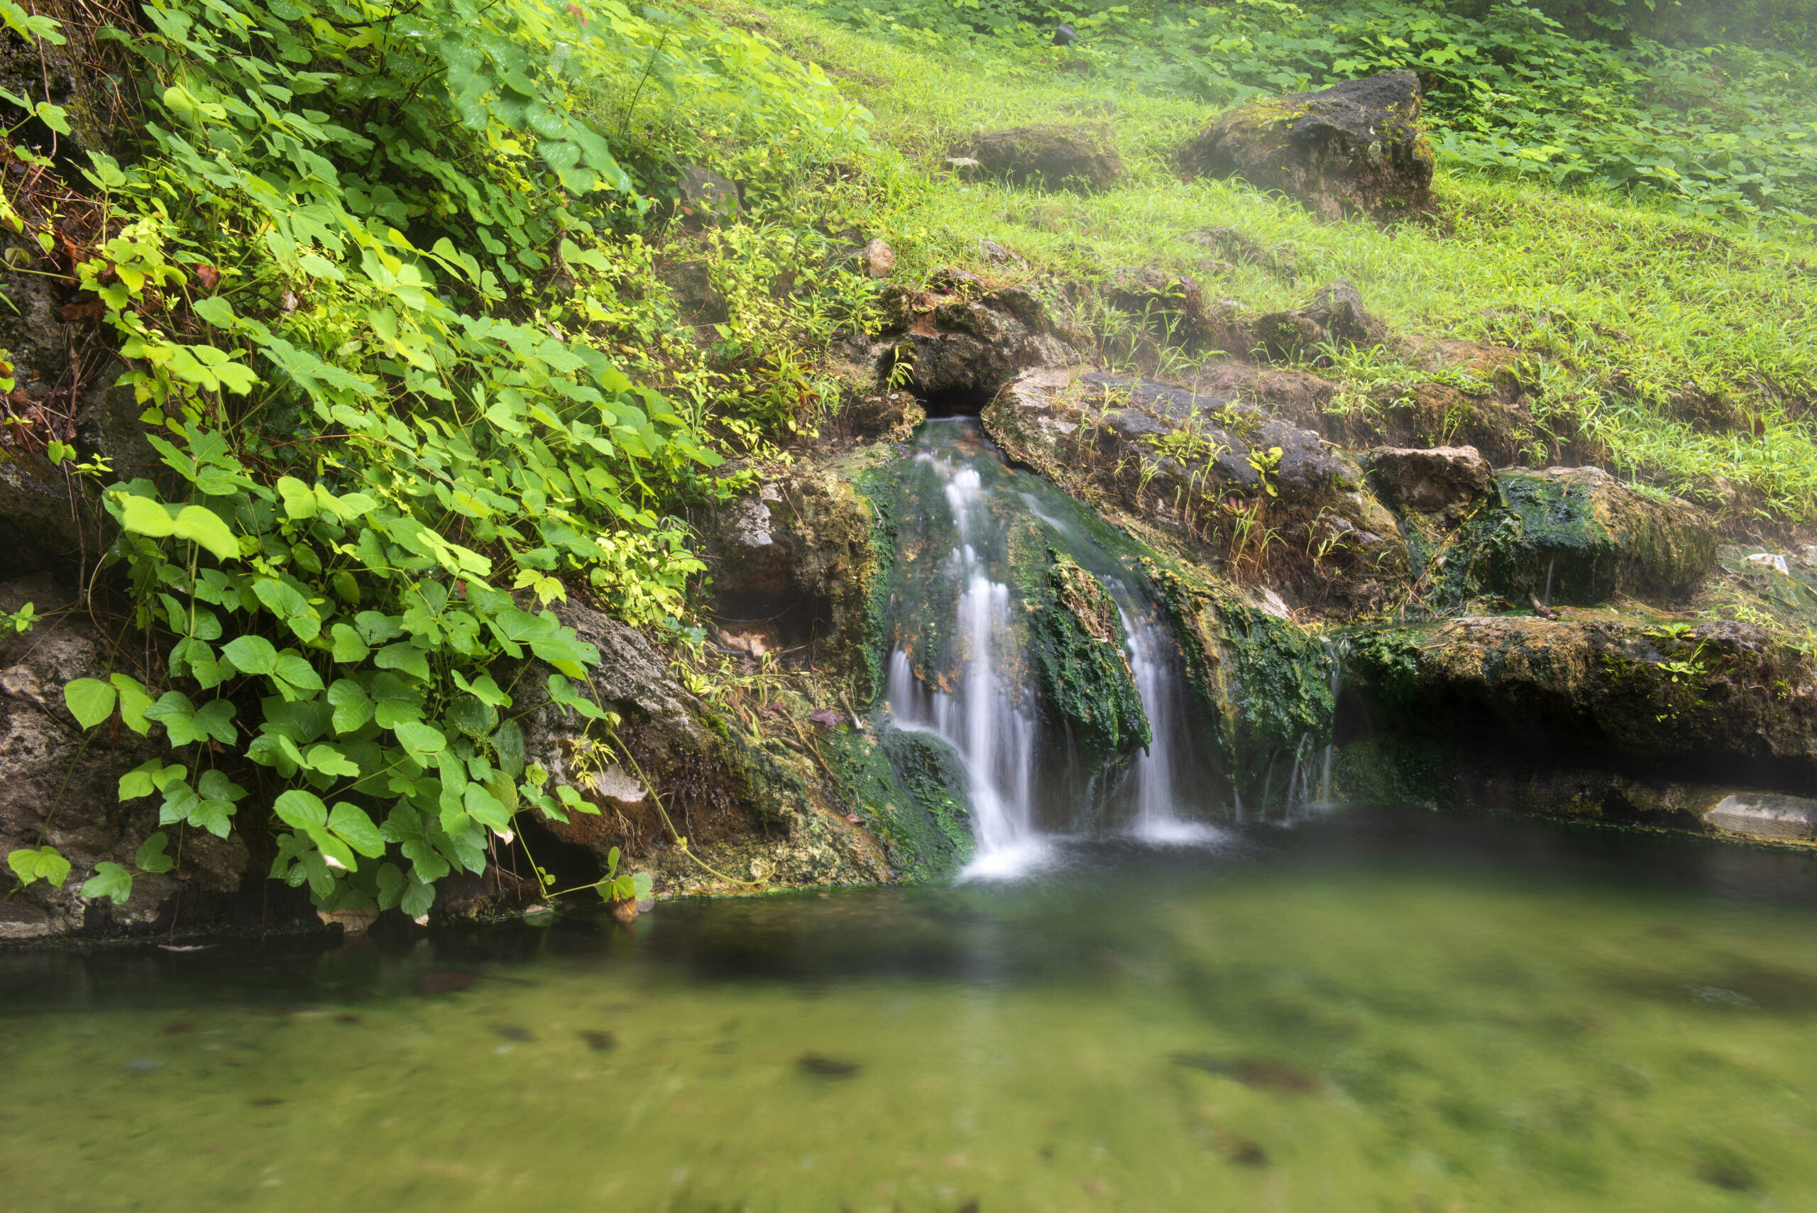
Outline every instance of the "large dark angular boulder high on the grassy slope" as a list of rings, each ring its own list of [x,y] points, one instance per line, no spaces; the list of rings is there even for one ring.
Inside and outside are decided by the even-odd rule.
[[[1279,189],[1314,214],[1392,220],[1432,207],[1419,76],[1390,71],[1217,116],[1183,160],[1206,176]]]

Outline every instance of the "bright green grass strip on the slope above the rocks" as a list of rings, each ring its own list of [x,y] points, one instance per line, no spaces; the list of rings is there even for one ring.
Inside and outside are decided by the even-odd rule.
[[[1210,111],[1081,76],[1012,80],[829,25],[799,11],[741,13],[816,60],[872,113],[869,198],[856,216],[898,251],[898,276],[943,265],[1005,278],[1101,278],[1116,267],[1197,276],[1241,314],[1303,303],[1348,278],[1395,332],[1510,345],[1535,356],[1535,416],[1613,470],[1690,496],[1732,527],[1817,521],[1817,247],[1679,218],[1619,196],[1448,173],[1446,223],[1321,223],[1241,182],[1183,180],[1174,151]],[[1067,122],[1110,102],[1128,176],[1096,194],[967,183],[939,173],[968,134]],[[1234,227],[1286,254],[1208,272],[1192,232]],[[1027,258],[987,265],[981,240]],[[1544,365],[1541,365],[1544,363]],[[1337,372],[1334,378],[1343,380]],[[1723,401],[1733,429],[1699,432],[1673,398]]]

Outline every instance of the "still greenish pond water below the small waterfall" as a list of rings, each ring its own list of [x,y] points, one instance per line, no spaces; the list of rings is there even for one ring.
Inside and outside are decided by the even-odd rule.
[[[1817,1209],[1817,864],[1341,810],[1008,886],[0,955],[0,1208]]]

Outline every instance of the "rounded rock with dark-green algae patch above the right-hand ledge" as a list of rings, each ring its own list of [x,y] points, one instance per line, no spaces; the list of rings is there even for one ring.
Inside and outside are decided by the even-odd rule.
[[[1441,597],[1603,603],[1690,594],[1717,565],[1715,530],[1692,505],[1643,496],[1594,467],[1495,476],[1499,503],[1443,556]]]

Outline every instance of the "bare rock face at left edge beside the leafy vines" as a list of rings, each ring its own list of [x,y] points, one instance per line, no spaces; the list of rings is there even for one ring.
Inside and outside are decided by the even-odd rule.
[[[45,576],[0,585],[0,610],[18,610],[29,601],[44,616],[73,605],[71,599]],[[0,855],[47,844],[71,864],[60,888],[38,881],[0,902],[0,941],[169,926],[180,888],[185,893],[184,924],[222,924],[233,915],[233,895],[242,886],[256,884],[242,835],[216,839],[189,830],[182,866],[160,875],[134,875],[133,897],[124,906],[78,895],[98,863],[131,868],[138,846],[158,830],[156,797],[122,804],[120,775],[149,757],[169,761],[162,741],[109,726],[98,726],[84,746],[82,728],[64,706],[64,683],[105,677],[107,670],[107,646],[82,614],[40,621],[35,630],[7,637],[0,646],[0,770],[5,772],[0,781]],[[174,843],[173,826],[173,855]],[[256,913],[256,904],[253,910]]]

